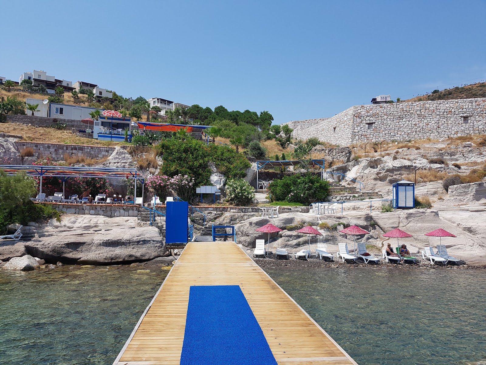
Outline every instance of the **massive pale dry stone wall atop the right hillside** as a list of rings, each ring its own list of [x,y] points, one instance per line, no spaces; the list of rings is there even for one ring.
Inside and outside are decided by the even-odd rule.
[[[331,118],[287,123],[299,139],[336,145],[486,133],[486,99],[358,105]]]

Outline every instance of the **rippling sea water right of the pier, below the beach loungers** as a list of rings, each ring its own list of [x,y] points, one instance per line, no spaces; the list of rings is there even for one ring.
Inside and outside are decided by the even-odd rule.
[[[265,269],[360,364],[486,360],[486,271]]]

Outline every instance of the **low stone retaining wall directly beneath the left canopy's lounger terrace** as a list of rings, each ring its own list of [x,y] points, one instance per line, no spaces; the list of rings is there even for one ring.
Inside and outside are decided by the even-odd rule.
[[[104,217],[137,217],[140,209],[138,205],[120,204],[45,204],[52,204],[55,210],[67,214],[89,214]]]

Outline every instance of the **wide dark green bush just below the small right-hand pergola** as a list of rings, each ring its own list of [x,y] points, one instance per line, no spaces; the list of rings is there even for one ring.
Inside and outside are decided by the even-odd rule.
[[[295,201],[303,204],[324,201],[329,196],[330,184],[318,176],[290,175],[269,185],[272,198],[278,201]]]

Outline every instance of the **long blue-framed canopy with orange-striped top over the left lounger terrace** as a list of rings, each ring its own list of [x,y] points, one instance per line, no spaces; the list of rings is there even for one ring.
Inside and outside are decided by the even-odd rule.
[[[17,175],[24,172],[27,176],[40,178],[39,194],[42,193],[42,177],[58,177],[63,182],[63,187],[64,183],[71,177],[135,179],[135,198],[137,197],[137,180],[141,180],[142,183],[144,181],[143,176],[134,168],[0,165],[0,170],[5,171],[7,175]]]

